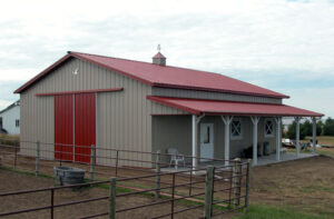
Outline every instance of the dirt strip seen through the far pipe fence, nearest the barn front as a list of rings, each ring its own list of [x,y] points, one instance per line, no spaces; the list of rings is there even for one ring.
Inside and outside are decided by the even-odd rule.
[[[2,163],[6,167],[14,167],[14,156],[12,152],[10,153],[0,153],[0,158],[3,158]],[[76,167],[84,169],[86,171],[86,179],[90,179],[90,166],[86,163],[73,163],[73,162],[59,162],[59,161],[52,161],[52,160],[40,160],[40,167],[39,167],[39,173],[47,175],[47,176],[53,176],[53,167],[57,166],[63,166],[63,167]],[[24,170],[35,172],[36,169],[36,160],[35,158],[23,157],[23,156],[17,156],[17,162],[16,162],[16,169],[17,170]],[[205,171],[204,171],[205,173]],[[125,187],[137,187],[141,189],[154,189],[156,187],[156,172],[155,169],[143,169],[143,168],[134,168],[134,167],[118,167],[117,175],[116,175],[116,168],[115,167],[105,167],[105,166],[96,166],[95,167],[95,180],[108,180],[110,177],[117,177],[117,179],[121,180],[125,178],[134,178],[134,177],[143,177],[143,176],[151,176],[145,179],[140,180],[129,180],[129,181],[121,181],[118,182],[118,185],[125,186]],[[216,176],[219,177],[232,177],[232,172],[227,171],[224,172],[222,169],[217,171]],[[205,191],[205,175],[200,176],[190,176],[189,171],[186,173],[177,173],[175,177],[175,185],[186,185],[186,183],[193,183],[193,187],[184,186],[184,187],[177,187],[176,195],[179,196],[189,196],[189,195],[196,195],[196,193],[203,193]],[[160,177],[160,187],[170,187],[173,185],[173,176],[161,176]],[[228,180],[220,180],[215,182],[215,189],[227,189],[229,188],[230,181]],[[171,193],[171,188],[164,189],[163,192]],[[222,192],[215,192],[215,198],[217,200],[227,200],[230,198],[229,195],[230,191],[222,191]],[[242,193],[242,196],[245,192]],[[204,195],[198,196],[197,198],[204,199]]]

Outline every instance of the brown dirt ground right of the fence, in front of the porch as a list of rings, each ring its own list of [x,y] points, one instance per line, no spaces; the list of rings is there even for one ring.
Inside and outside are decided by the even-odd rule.
[[[252,170],[252,203],[334,216],[334,159],[318,156]]]

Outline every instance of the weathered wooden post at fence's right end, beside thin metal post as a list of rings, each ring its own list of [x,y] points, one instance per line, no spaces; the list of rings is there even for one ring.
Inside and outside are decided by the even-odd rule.
[[[234,159],[233,166],[233,202],[234,206],[239,206],[240,203],[240,175],[242,175],[242,161],[240,158]]]

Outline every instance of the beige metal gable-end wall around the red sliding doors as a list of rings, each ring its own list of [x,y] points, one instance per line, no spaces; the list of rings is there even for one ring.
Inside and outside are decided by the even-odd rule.
[[[72,72],[78,68],[78,74]],[[136,80],[78,59],[71,59],[21,93],[21,139],[53,143],[53,97],[36,93],[124,88],[119,92],[98,93],[98,147],[127,150],[151,150],[151,102],[146,99],[151,88]],[[27,143],[24,145],[27,147]],[[50,145],[50,150],[53,146]],[[22,151],[24,155],[31,155]],[[53,156],[52,152],[50,155]],[[110,151],[98,151],[98,156]],[[122,153],[125,158],[143,159],[144,156]],[[50,156],[50,158],[52,158]],[[150,158],[148,158],[149,160]],[[104,158],[100,163],[110,163]],[[134,165],[124,162],[124,165]]]

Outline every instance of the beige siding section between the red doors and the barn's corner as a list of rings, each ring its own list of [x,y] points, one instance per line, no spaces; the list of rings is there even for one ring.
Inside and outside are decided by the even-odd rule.
[[[124,81],[124,86],[125,92],[98,94],[99,147],[151,151],[150,102],[146,100],[149,87],[128,79]],[[116,152],[99,150],[99,156],[116,157]],[[150,160],[150,156],[144,153],[120,152],[120,156],[131,160]],[[115,165],[115,160],[110,162],[104,158],[99,162]],[[128,161],[120,163],[139,166]]]

